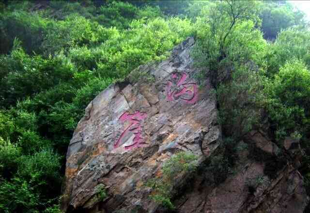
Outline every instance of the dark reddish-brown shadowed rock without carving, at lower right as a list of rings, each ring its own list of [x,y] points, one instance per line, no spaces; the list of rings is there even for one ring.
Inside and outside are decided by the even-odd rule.
[[[248,141],[272,143],[259,131],[251,132]],[[265,152],[273,154],[271,150],[268,148]],[[197,175],[183,198],[175,201],[176,212],[303,213],[309,197],[303,177],[294,166],[287,164],[275,171],[276,178],[271,179],[264,173],[266,163],[257,162],[249,155],[247,149],[238,153],[239,161],[233,168],[235,174],[219,185],[208,181],[208,173]]]

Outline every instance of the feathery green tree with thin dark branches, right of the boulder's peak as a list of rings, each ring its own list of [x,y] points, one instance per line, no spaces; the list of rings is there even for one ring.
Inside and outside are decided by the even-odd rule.
[[[213,2],[196,22],[193,56],[217,86],[223,131],[236,138],[260,120],[267,43],[255,28],[258,12],[257,2]]]

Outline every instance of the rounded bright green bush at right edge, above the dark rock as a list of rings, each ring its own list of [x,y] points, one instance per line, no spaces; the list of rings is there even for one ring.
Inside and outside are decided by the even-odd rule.
[[[310,130],[309,85],[310,71],[300,60],[287,62],[275,75],[274,81],[266,83],[268,114],[278,134],[284,131],[279,136]]]

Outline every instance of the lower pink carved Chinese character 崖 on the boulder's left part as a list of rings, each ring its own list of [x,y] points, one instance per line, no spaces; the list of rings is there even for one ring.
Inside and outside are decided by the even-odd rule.
[[[141,121],[143,121],[147,117],[146,113],[140,113],[139,111],[134,114],[129,114],[125,112],[123,115],[120,116],[119,120],[124,123],[125,121],[129,121],[129,126],[123,131],[120,138],[114,143],[114,148],[119,147],[121,144],[126,141],[126,138],[130,133],[133,133],[134,139],[131,145],[125,146],[126,150],[130,150],[133,147],[143,147],[145,144],[142,140],[142,127]],[[122,143],[123,142],[123,143]]]

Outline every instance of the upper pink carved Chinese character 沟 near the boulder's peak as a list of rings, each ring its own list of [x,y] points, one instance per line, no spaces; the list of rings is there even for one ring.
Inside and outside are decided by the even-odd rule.
[[[189,104],[198,100],[198,86],[195,82],[187,82],[186,73],[173,73],[167,83],[167,98],[170,101],[180,98]]]

